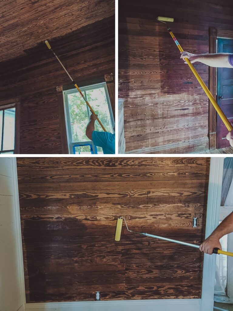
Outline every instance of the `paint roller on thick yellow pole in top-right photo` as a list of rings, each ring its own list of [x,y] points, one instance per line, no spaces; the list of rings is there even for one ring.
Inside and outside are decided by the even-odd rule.
[[[157,17],[157,21],[160,21],[164,24],[167,25],[167,21],[169,22],[173,22],[174,18],[171,17],[163,17],[163,16],[158,16]],[[177,41],[176,37],[174,36],[173,32],[171,31],[171,29],[169,27],[167,27],[167,31],[169,32],[169,34],[171,35],[171,38],[174,40],[175,44],[177,45],[177,48],[179,49],[180,52],[184,52],[184,50],[181,48],[179,42]],[[217,104],[215,98],[213,97],[213,95],[211,94],[211,92],[209,91],[208,87],[205,85],[204,81],[202,80],[202,78],[199,76],[198,72],[196,71],[196,69],[194,68],[194,66],[192,65],[192,63],[190,62],[190,60],[188,58],[185,58],[185,61],[187,62],[187,64],[189,65],[190,69],[192,70],[194,76],[196,77],[197,81],[200,83],[200,86],[203,88],[204,92],[206,93],[206,95],[208,96],[210,102],[212,103],[212,105],[214,106],[215,110],[217,111],[218,115],[220,116],[220,118],[222,119],[222,122],[225,124],[226,128],[228,129],[228,131],[232,131],[233,127],[231,125],[231,123],[229,122],[229,120],[226,118],[226,115],[224,114],[224,112],[222,111],[222,109],[219,107],[219,105]]]

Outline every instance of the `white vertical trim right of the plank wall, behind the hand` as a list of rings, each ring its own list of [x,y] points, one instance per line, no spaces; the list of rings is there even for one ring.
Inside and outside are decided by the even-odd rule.
[[[206,231],[207,238],[217,227],[222,193],[222,174],[224,157],[210,160]],[[204,254],[201,311],[213,311],[216,254]]]

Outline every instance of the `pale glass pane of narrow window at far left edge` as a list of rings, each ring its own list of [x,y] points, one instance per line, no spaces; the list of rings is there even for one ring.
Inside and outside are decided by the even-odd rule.
[[[3,150],[15,149],[15,108],[4,110]]]

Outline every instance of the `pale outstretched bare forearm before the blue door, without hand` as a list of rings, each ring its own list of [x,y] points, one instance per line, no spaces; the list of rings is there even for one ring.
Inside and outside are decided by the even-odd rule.
[[[231,67],[228,53],[197,54],[193,57],[196,62],[201,62],[210,67]]]

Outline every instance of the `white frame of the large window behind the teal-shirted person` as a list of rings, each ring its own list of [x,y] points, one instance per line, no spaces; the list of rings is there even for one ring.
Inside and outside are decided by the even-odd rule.
[[[111,106],[106,82],[101,82],[101,83],[92,84],[89,86],[84,86],[84,87],[81,87],[80,90],[82,91],[82,93],[85,94],[85,97],[86,97],[86,91],[98,89],[100,87],[104,87],[106,98],[107,98],[107,105],[108,105],[110,118],[111,118],[111,122],[112,122],[112,128],[114,128],[114,117],[113,117],[113,113],[112,113],[112,106]],[[63,91],[62,93],[63,93],[65,121],[66,121],[66,136],[67,136],[68,151],[69,151],[69,154],[73,154],[73,146],[76,145],[77,143],[84,143],[84,142],[72,142],[72,128],[71,128],[71,123],[70,123],[70,109],[69,109],[69,104],[68,104],[68,95],[78,93],[78,91],[76,88],[74,88],[74,89]],[[83,101],[83,104],[86,105],[85,101]],[[88,116],[90,118],[90,111],[89,111],[88,106],[87,106],[87,113],[88,113]],[[93,152],[95,153],[95,151],[94,151],[95,148],[94,148],[93,142],[89,141],[89,140],[87,140],[86,142],[92,143]]]

